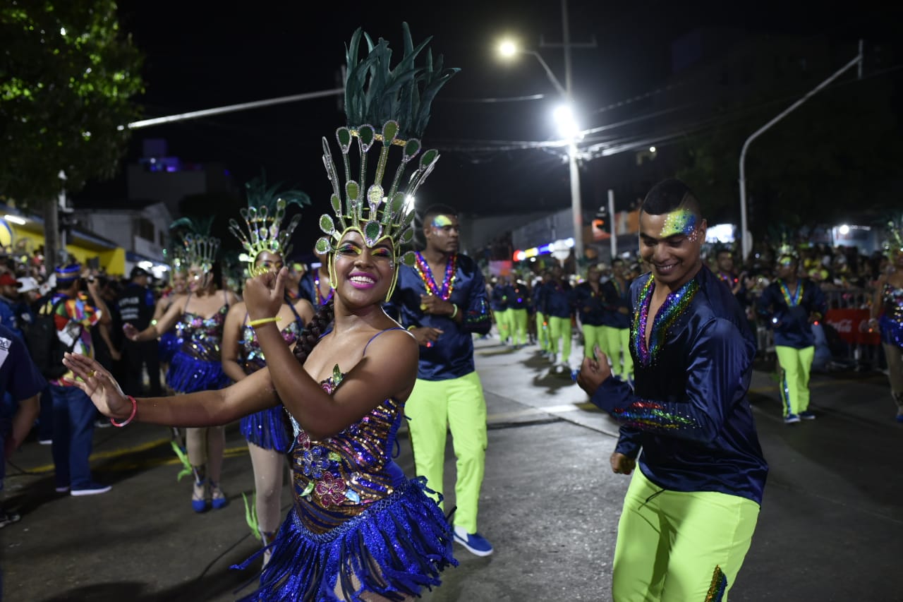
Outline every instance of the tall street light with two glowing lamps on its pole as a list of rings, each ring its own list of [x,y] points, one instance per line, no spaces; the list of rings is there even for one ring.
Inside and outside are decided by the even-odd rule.
[[[558,123],[559,132],[567,140],[568,167],[571,176],[571,212],[573,213],[573,254],[578,265],[583,259],[583,215],[580,200],[580,170],[577,166],[577,138],[580,136],[580,127],[573,115],[573,96],[571,94],[571,74],[567,73],[568,88],[565,89],[555,74],[549,69],[549,65],[543,57],[534,50],[521,48],[514,40],[506,39],[498,44],[498,54],[505,59],[512,59],[517,54],[529,54],[535,57],[542,65],[545,75],[552,82],[554,88],[563,99],[563,104],[555,108],[554,118]]]

